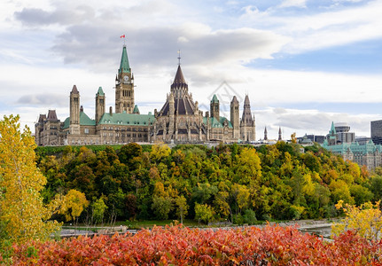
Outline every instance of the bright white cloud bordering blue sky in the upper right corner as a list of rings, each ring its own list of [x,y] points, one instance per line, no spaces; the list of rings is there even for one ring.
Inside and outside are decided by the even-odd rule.
[[[247,7],[242,24],[272,30],[290,37],[282,53],[303,53],[348,43],[382,38],[382,1],[375,0],[347,8],[316,9],[309,14],[283,13],[269,8],[260,12]]]

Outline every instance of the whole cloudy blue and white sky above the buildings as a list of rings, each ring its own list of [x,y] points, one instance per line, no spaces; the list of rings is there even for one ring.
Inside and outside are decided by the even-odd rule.
[[[35,131],[39,114],[69,115],[73,85],[91,118],[102,87],[114,109],[127,45],[141,113],[166,101],[180,50],[192,98],[214,94],[230,117],[246,94],[256,138],[326,135],[331,121],[370,137],[382,119],[382,0],[4,0],[0,115]],[[126,38],[121,38],[125,35]],[[241,115],[241,113],[240,113]]]

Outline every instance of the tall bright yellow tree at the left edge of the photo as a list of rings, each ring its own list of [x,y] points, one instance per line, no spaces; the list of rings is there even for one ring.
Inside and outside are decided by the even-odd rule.
[[[35,164],[35,139],[26,127],[20,129],[19,115],[0,121],[0,223],[12,241],[46,239],[59,229],[48,221],[58,210],[58,201],[43,205],[40,192],[46,178]]]

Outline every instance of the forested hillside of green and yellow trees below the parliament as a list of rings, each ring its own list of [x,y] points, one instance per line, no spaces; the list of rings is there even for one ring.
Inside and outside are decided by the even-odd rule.
[[[278,142],[247,145],[129,144],[118,147],[41,148],[37,165],[47,177],[43,197],[83,192],[82,212],[100,219],[182,219],[200,222],[321,218],[337,215],[344,200],[379,200],[380,176],[370,177],[319,146]],[[371,185],[372,184],[372,185]],[[105,203],[104,205],[102,205]],[[81,220],[81,219],[80,219]]]

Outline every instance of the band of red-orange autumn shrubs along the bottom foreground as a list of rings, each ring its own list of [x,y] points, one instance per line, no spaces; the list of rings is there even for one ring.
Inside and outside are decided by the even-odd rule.
[[[35,253],[30,251],[31,246]],[[369,242],[352,231],[341,234],[333,242],[325,242],[293,227],[212,231],[177,225],[139,231],[134,236],[101,235],[92,239],[80,237],[15,245],[12,262],[18,265],[382,265],[381,247],[381,242]]]

